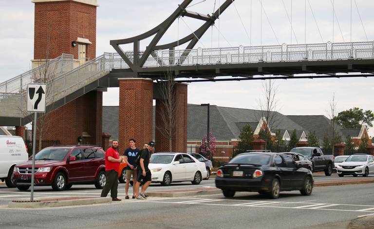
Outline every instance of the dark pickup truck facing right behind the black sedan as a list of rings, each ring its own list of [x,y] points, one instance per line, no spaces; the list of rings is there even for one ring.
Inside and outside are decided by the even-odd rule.
[[[324,155],[318,147],[296,147],[290,152],[300,153],[313,163],[313,172],[324,171],[326,176],[331,176],[334,168],[334,156]]]

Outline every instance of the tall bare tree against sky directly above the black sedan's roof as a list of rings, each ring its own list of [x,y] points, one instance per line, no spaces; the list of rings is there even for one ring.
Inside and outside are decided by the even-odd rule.
[[[271,79],[262,83],[263,98],[260,98],[258,102],[261,117],[258,117],[258,120],[262,120],[266,136],[271,136],[271,130],[280,122],[280,116],[277,108],[278,101],[276,99],[277,91],[278,87],[274,85],[274,82],[272,82]],[[270,141],[272,141],[272,139],[265,137],[263,140],[265,141],[266,150],[268,148],[268,144],[271,144]]]

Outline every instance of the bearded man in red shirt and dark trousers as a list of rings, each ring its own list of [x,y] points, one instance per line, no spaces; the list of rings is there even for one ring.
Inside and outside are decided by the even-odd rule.
[[[118,189],[118,168],[119,163],[123,163],[124,160],[119,157],[117,151],[118,141],[112,141],[112,147],[105,152],[105,173],[107,175],[107,182],[101,191],[101,197],[107,197],[108,192],[111,191],[112,201],[121,201],[117,198]]]

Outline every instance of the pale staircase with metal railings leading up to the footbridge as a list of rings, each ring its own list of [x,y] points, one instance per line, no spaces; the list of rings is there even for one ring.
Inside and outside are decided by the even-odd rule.
[[[46,106],[48,107],[107,75],[111,69],[110,58],[111,54],[105,53],[73,69],[73,55],[63,54],[1,83],[0,116],[24,118],[31,115],[26,111],[27,84],[47,84]],[[64,104],[59,104],[59,106]]]

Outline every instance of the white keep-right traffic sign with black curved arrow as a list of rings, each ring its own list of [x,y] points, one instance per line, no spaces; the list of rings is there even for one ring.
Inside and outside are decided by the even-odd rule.
[[[45,95],[47,85],[44,83],[29,83],[27,85],[27,111],[45,112]]]

